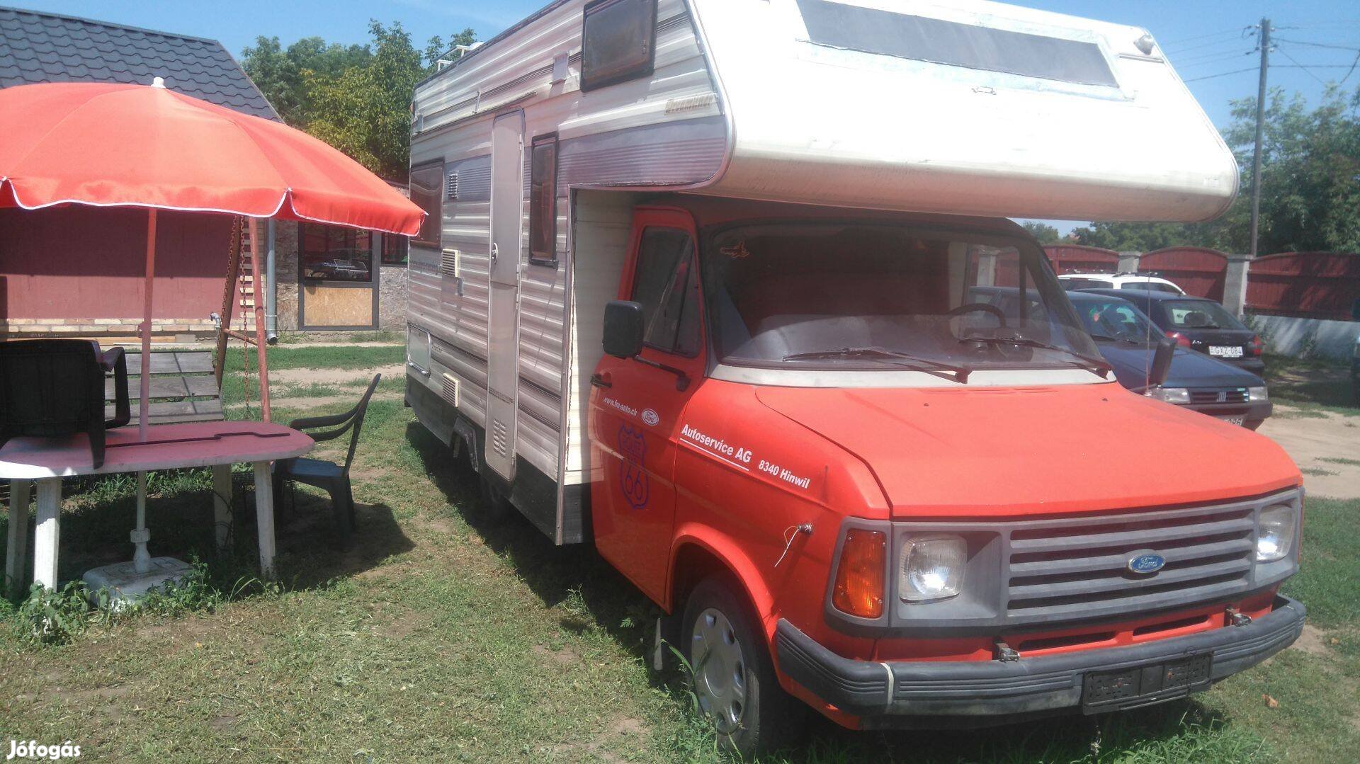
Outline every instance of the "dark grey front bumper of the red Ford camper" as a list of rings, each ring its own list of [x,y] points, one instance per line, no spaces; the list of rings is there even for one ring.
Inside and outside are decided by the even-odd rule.
[[[789,678],[840,711],[861,716],[865,727],[902,726],[894,722],[900,716],[968,716],[972,726],[989,720],[1000,725],[1080,707],[1087,672],[1212,654],[1209,682],[1219,681],[1292,644],[1303,631],[1303,617],[1302,604],[1276,597],[1269,614],[1240,627],[1017,661],[948,662],[842,658],[781,619],[775,654]],[[1204,687],[1121,707],[1171,700]]]

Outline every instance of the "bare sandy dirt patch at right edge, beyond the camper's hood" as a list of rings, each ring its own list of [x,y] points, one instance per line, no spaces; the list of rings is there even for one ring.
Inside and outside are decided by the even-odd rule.
[[[1312,412],[1276,405],[1261,426],[1262,435],[1280,443],[1303,470],[1310,496],[1360,499],[1360,416]]]

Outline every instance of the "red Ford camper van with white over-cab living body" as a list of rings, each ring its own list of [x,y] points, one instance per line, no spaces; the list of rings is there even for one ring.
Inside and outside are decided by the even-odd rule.
[[[744,753],[796,703],[1142,707],[1303,625],[1299,469],[1121,387],[1005,219],[1210,218],[1231,152],[1145,30],[987,7],[560,0],[416,87],[407,401]]]

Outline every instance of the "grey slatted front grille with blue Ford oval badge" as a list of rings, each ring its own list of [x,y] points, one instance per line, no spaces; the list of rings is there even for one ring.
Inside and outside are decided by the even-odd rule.
[[[1166,559],[1129,570],[1134,552]],[[1251,586],[1255,515],[1248,504],[1064,518],[1010,530],[1006,620],[1051,623],[1231,598]]]

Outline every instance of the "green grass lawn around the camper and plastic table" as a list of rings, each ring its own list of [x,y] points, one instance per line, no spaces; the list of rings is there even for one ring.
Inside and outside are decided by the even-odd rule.
[[[366,370],[401,352],[282,347],[271,362]],[[228,404],[241,389],[228,387]],[[344,408],[284,396],[275,417]],[[476,481],[400,400],[370,408],[354,477],[348,548],[335,548],[318,496],[299,491],[280,518],[282,586],[249,583],[249,522],[235,553],[214,553],[201,474],[158,477],[152,553],[197,555],[220,593],[248,583],[46,647],[19,640],[18,614],[0,604],[0,742],[71,740],[98,761],[721,759],[683,680],[646,667],[646,598],[588,546],[556,548],[514,519],[473,522]],[[61,575],[125,559],[132,481],[69,481],[68,492]],[[1357,521],[1360,502],[1308,502],[1304,568],[1285,587],[1310,608],[1302,648],[1191,700],[983,731],[849,733],[809,719],[802,746],[775,760],[1353,761]]]

